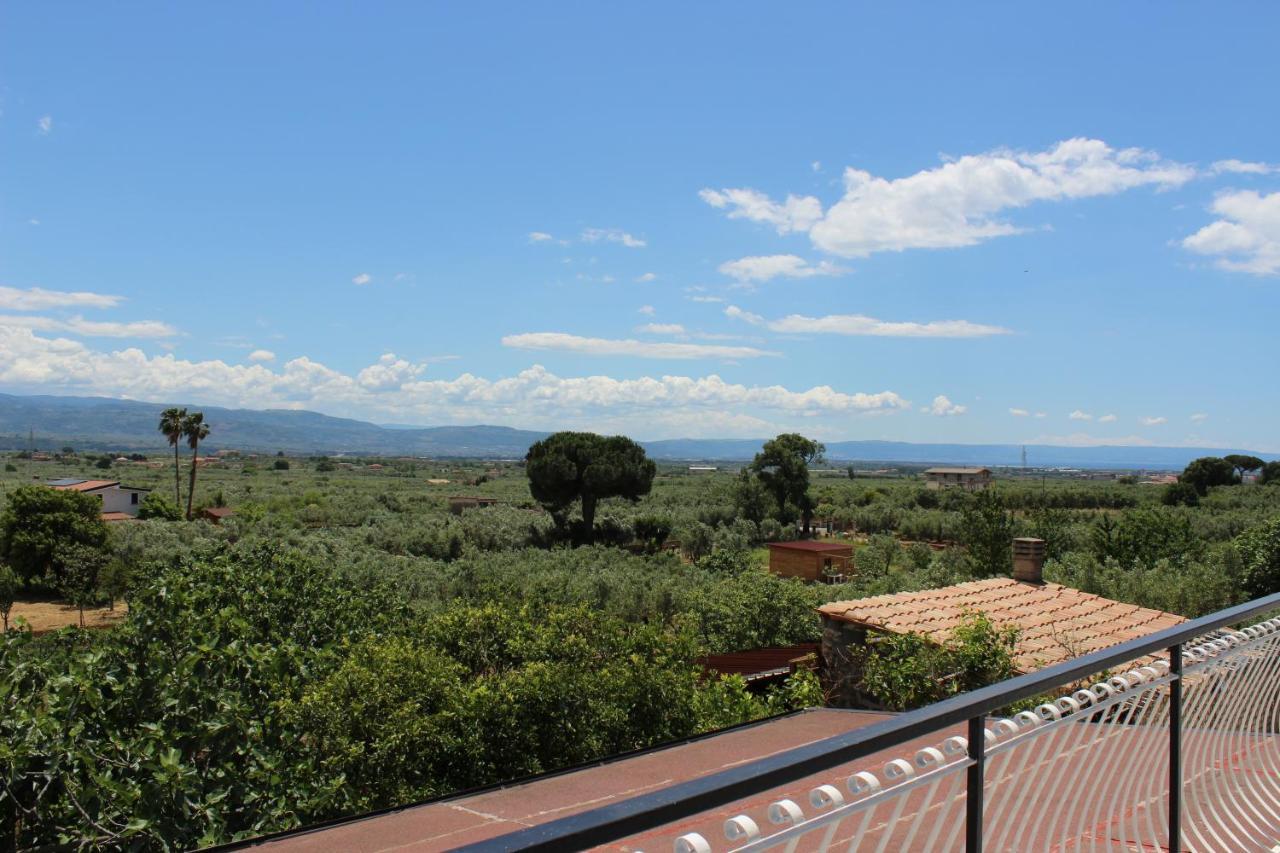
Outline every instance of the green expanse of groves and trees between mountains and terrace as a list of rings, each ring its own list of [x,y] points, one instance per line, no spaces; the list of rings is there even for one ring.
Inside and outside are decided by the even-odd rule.
[[[35,476],[173,501],[172,457],[100,459],[10,459],[0,502]],[[110,525],[127,619],[6,635],[3,822],[22,844],[191,847],[813,704],[806,674],[750,693],[696,660],[814,640],[826,601],[1007,571],[1012,535],[1047,542],[1051,580],[1208,612],[1248,597],[1242,534],[1280,514],[1280,488],[1257,484],[1165,506],[1165,487],[1135,482],[1004,476],[975,496],[835,469],[809,494],[815,523],[855,543],[846,583],[767,573],[762,543],[796,524],[737,470],[660,467],[639,501],[602,501],[582,544],[518,462],[201,466],[196,507],[232,515]],[[31,581],[19,599],[51,594]]]

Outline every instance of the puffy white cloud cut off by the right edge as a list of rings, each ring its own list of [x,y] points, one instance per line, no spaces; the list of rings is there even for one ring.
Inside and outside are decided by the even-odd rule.
[[[1224,192],[1211,210],[1221,216],[1183,241],[1199,255],[1217,256],[1217,266],[1254,275],[1280,274],[1280,192]]]

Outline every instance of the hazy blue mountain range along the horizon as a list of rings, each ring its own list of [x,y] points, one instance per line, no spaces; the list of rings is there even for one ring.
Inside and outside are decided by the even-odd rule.
[[[212,425],[202,447],[294,455],[387,455],[517,459],[548,433],[509,426],[378,425],[314,411],[284,409],[221,409],[191,402],[147,403],[106,397],[22,397],[0,394],[0,450],[23,450],[35,432],[36,446],[56,450],[157,451],[166,447],[156,430],[169,406],[200,409]],[[641,443],[654,459],[696,461],[749,460],[762,438],[675,438]],[[1019,465],[1019,444],[914,444],[910,442],[831,442],[832,462],[904,462]],[[1028,444],[1028,464],[1036,467],[1105,467],[1178,470],[1197,456],[1252,451],[1203,447],[1060,447]],[[1253,453],[1262,459],[1275,455]]]

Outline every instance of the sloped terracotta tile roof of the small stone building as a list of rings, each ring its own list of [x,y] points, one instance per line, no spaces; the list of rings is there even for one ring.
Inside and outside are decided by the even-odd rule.
[[[965,613],[1019,629],[1014,665],[1029,672],[1185,622],[1183,616],[1124,605],[1062,587],[991,578],[920,592],[836,601],[823,616],[893,634],[943,642]]]

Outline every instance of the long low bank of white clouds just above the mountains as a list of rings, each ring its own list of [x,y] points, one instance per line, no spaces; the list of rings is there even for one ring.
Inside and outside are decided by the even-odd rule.
[[[307,357],[279,368],[188,361],[172,353],[148,356],[134,347],[92,350],[77,341],[0,325],[0,386],[28,392],[314,409],[362,419],[577,426],[630,432],[640,438],[727,432],[759,435],[765,428],[797,426],[810,412],[844,424],[851,414],[890,414],[910,406],[891,391],[845,393],[829,386],[791,391],[728,383],[717,375],[563,378],[536,365],[498,379],[465,373],[429,380],[419,374],[420,368],[392,355],[357,378]]]

